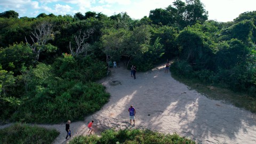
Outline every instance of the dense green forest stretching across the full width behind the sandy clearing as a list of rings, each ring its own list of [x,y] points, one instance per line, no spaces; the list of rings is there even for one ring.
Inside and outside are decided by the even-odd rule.
[[[146,71],[173,59],[175,75],[255,97],[256,11],[230,22],[207,17],[199,0],[177,0],[140,20],[125,12],[0,13],[1,121],[83,119],[108,101],[95,83],[107,75],[108,61]]]

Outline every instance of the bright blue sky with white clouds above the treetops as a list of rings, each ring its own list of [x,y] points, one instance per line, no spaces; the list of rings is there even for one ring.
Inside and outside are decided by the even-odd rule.
[[[185,0],[182,0],[185,1]],[[133,19],[148,16],[150,10],[165,8],[174,0],[0,0],[0,12],[14,10],[19,17],[36,17],[40,13],[55,15],[101,12],[108,16],[127,12]],[[256,0],[201,0],[209,19],[232,21],[246,11],[256,11]]]

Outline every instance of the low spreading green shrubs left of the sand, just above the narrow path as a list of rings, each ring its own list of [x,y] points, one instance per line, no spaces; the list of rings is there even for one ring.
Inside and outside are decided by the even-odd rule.
[[[67,119],[82,120],[85,115],[99,110],[110,97],[102,85],[79,81],[60,82],[55,89],[37,86],[34,93],[35,97],[25,101],[12,115],[13,121],[59,123]]]

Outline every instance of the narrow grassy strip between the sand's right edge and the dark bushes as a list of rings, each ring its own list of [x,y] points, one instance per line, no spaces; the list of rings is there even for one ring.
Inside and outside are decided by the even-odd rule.
[[[256,99],[245,93],[238,93],[221,87],[221,85],[206,85],[197,79],[183,78],[172,74],[177,81],[186,84],[191,89],[204,94],[209,99],[221,100],[256,113]]]

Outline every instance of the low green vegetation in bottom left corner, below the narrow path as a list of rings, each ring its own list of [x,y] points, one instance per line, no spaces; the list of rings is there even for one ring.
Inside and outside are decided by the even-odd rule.
[[[52,143],[59,134],[55,129],[16,123],[0,130],[0,143]]]

